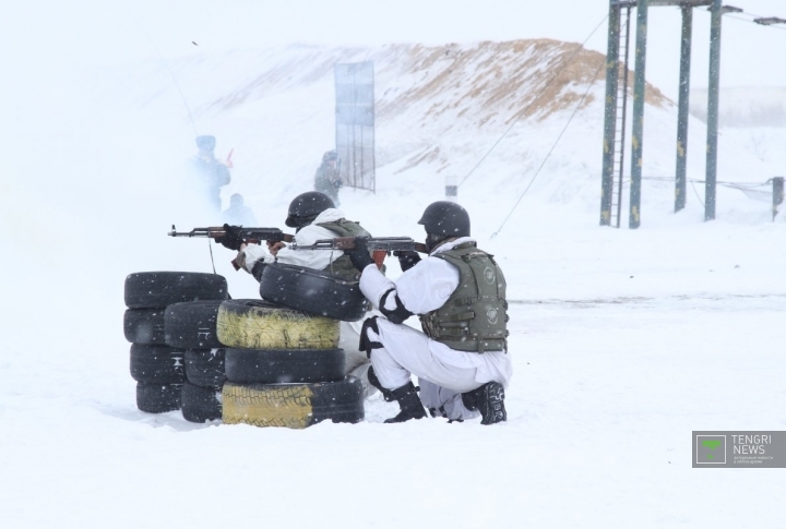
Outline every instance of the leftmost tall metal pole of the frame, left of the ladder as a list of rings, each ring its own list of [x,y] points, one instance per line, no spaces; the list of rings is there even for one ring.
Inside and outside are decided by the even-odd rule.
[[[600,185],[600,226],[611,225],[614,193],[614,146],[619,82],[620,7],[609,0],[608,51],[606,52],[606,111],[604,117],[604,157]]]

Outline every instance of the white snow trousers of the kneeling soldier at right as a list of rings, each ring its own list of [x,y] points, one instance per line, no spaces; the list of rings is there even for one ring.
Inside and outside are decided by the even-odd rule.
[[[428,409],[443,410],[448,419],[472,419],[478,411],[469,411],[461,394],[487,382],[508,387],[513,369],[505,351],[483,354],[457,351],[406,325],[377,318],[379,335],[366,327],[368,338],[382,348],[371,350],[371,364],[380,384],[386,389],[398,388],[418,377],[420,401]],[[439,412],[438,412],[439,413]]]

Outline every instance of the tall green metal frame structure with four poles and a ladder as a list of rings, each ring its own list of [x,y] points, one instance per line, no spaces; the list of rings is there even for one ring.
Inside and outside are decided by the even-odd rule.
[[[624,151],[626,111],[622,110],[620,127],[618,113],[619,88],[619,47],[621,10],[630,13],[636,8],[636,50],[633,86],[633,134],[631,137],[631,187],[629,205],[629,227],[641,226],[641,180],[644,144],[644,97],[646,91],[646,37],[647,10],[651,7],[678,7],[682,11],[682,33],[680,49],[680,86],[677,123],[677,168],[675,172],[675,212],[686,205],[687,160],[688,160],[688,117],[690,97],[690,62],[693,33],[693,9],[708,7],[712,13],[710,36],[710,88],[707,97],[707,142],[704,219],[715,218],[715,192],[717,182],[717,135],[718,135],[718,87],[720,80],[720,20],[726,12],[738,12],[738,8],[724,7],[722,0],[609,0],[608,52],[606,59],[606,112],[604,124],[604,158],[600,197],[600,226],[612,226],[614,183],[616,153]],[[628,61],[623,65],[623,75],[628,80]],[[627,93],[627,88],[626,88]],[[621,129],[621,141],[617,141]],[[620,166],[623,156],[620,154]],[[619,173],[617,196],[617,227],[619,227],[619,204],[622,199],[622,170]]]

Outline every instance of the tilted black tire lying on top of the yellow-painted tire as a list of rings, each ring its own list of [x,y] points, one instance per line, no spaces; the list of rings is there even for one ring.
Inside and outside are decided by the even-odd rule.
[[[366,315],[368,302],[360,284],[344,281],[327,272],[272,263],[260,280],[260,296],[297,311],[357,322]]]

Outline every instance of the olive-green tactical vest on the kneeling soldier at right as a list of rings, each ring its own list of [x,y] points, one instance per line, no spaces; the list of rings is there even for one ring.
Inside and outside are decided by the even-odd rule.
[[[424,333],[460,351],[508,350],[505,280],[493,256],[465,242],[432,257],[454,265],[461,278],[441,308],[420,316]]]

